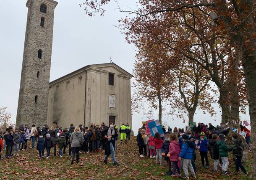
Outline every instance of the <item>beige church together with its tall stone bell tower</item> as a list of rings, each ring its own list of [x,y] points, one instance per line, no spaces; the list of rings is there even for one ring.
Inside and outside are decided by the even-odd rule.
[[[16,127],[57,123],[109,124],[131,120],[131,78],[115,63],[88,65],[50,81],[54,0],[27,0]]]

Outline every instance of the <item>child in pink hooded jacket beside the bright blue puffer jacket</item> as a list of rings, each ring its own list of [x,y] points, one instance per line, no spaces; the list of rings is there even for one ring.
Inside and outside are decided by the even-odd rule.
[[[172,177],[175,177],[176,171],[178,171],[178,177],[181,177],[180,168],[178,167],[178,158],[180,155],[180,146],[178,143],[178,137],[176,134],[170,135],[170,146],[169,146],[170,161],[173,165]]]

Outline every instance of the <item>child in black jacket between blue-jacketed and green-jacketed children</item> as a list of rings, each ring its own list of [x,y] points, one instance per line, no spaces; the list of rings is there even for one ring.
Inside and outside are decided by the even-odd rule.
[[[211,154],[211,158],[213,159],[213,171],[217,172],[217,167],[219,164],[219,147],[217,145],[217,134],[212,134],[212,139],[209,139],[208,150]]]

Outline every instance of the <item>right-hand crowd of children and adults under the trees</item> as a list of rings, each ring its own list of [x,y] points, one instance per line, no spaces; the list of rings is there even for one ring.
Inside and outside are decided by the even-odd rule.
[[[244,174],[247,174],[242,164],[243,143],[237,132],[232,132],[232,145],[227,145],[227,134],[229,127],[221,124],[214,127],[211,123],[188,124],[184,129],[175,127],[172,131],[170,127],[165,131],[162,126],[164,136],[161,137],[159,132],[154,136],[146,135],[145,126],[138,129],[137,144],[139,156],[155,158],[156,164],[163,164],[163,159],[167,161],[168,171],[165,175],[172,177],[181,177],[181,167],[185,176],[183,179],[189,179],[188,170],[192,177],[196,177],[196,151],[199,150],[201,157],[201,167],[209,169],[208,154],[212,158],[214,165],[213,171],[217,172],[218,166],[224,174],[230,174],[228,171],[229,160],[228,152],[232,151],[233,160],[235,161],[235,173],[239,173],[239,168]],[[245,139],[250,150],[250,131],[243,125],[240,125],[240,131],[246,132]],[[164,157],[164,158],[163,158]],[[172,165],[172,168],[171,168]]]

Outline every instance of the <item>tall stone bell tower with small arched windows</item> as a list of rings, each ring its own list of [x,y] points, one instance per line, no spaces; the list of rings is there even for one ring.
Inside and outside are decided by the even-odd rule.
[[[54,0],[28,0],[16,127],[47,123]]]

